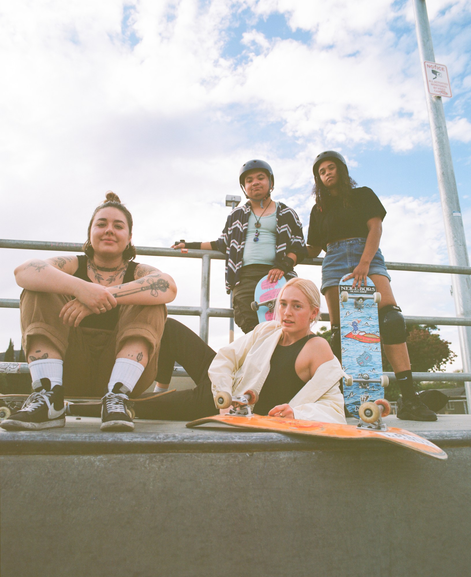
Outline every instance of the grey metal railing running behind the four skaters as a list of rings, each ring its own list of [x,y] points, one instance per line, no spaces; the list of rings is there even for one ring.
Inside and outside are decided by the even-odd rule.
[[[27,249],[27,250],[54,250],[55,252],[81,253],[82,245],[74,242],[43,242],[43,241],[17,241],[10,239],[0,239],[0,248]],[[167,306],[169,314],[190,315],[200,317],[200,337],[208,342],[210,317],[231,318],[234,316],[233,309],[211,308],[210,307],[210,277],[211,260],[225,260],[225,255],[212,250],[181,250],[158,248],[154,246],[136,246],[136,254],[144,256],[165,256],[173,258],[201,258],[201,294],[200,306]],[[322,266],[323,258],[306,258],[303,265]],[[390,271],[411,271],[411,272],[439,272],[452,273],[458,275],[471,275],[471,267],[452,267],[450,265],[437,264],[416,264],[416,263],[391,263],[387,262],[386,267]],[[0,308],[19,308],[18,299],[0,298]],[[453,325],[471,326],[471,318],[468,317],[420,317],[405,316],[406,324],[428,324],[428,325]],[[328,313],[323,313],[321,321],[329,321]],[[3,365],[6,365],[3,363]],[[2,370],[0,372],[29,372],[26,363],[12,363],[13,370]],[[13,365],[16,365],[13,368]],[[19,366],[23,365],[23,366]],[[176,370],[174,374],[184,375],[184,371]],[[391,381],[395,380],[394,373],[385,373]],[[415,381],[471,381],[471,373],[412,373]]]

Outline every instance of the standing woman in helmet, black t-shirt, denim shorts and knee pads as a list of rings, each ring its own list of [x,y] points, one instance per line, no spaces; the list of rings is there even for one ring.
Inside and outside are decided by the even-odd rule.
[[[436,414],[414,392],[406,345],[409,333],[392,294],[391,278],[379,248],[386,210],[370,188],[357,188],[339,152],[321,152],[312,171],[316,204],[309,221],[308,252],[316,257],[321,250],[326,251],[320,290],[330,314],[332,352],[341,360],[339,281],[350,273],[346,279],[354,278],[353,286],[366,285],[368,275],[382,295],[378,306],[380,336],[402,394],[397,416],[436,421]]]

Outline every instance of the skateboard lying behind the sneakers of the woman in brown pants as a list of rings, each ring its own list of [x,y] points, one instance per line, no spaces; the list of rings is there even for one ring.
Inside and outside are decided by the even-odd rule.
[[[134,418],[134,403],[141,403],[157,398],[158,396],[167,395],[174,392],[176,389],[171,389],[163,393],[143,393],[135,399],[129,399],[126,402],[131,417]],[[18,409],[23,407],[23,404],[29,395],[0,395],[0,421],[8,419],[8,417]],[[75,417],[100,417],[102,414],[102,398],[101,397],[85,397],[85,396],[69,396],[65,395],[66,415],[74,415]]]

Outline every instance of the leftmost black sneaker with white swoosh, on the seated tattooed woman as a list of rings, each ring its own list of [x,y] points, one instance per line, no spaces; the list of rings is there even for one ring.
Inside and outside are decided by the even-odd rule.
[[[49,379],[33,383],[35,392],[29,395],[23,407],[0,422],[6,430],[52,429],[65,426],[63,387],[55,385],[51,390]]]

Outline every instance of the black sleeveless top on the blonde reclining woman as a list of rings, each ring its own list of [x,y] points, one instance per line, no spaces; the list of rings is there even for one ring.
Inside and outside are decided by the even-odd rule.
[[[306,335],[296,343],[287,347],[277,345],[270,359],[270,373],[268,373],[260,396],[255,405],[257,415],[267,415],[278,404],[289,403],[306,383],[302,381],[294,370],[294,364],[301,353],[302,347],[316,335]]]

